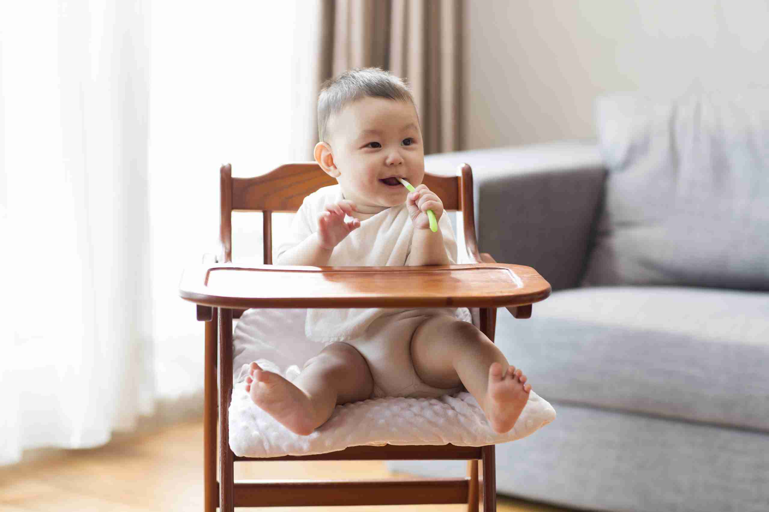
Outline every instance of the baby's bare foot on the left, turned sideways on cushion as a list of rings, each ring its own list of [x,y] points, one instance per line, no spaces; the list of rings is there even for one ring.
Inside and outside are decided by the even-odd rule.
[[[315,430],[311,418],[313,408],[301,389],[275,372],[262,370],[255,362],[251,363],[248,373],[245,390],[259,408],[295,434],[312,434]]]

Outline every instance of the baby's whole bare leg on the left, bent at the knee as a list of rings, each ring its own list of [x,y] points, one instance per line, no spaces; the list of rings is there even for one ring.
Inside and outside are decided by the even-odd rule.
[[[305,363],[289,382],[251,363],[246,391],[262,410],[295,434],[309,435],[324,424],[337,404],[365,400],[374,381],[368,364],[347,343],[332,343]]]

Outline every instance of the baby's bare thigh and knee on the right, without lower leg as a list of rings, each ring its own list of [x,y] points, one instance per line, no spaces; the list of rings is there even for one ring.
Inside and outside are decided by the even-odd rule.
[[[491,342],[475,325],[448,315],[426,319],[411,338],[411,361],[421,380],[448,388],[459,382],[454,370],[458,355]]]

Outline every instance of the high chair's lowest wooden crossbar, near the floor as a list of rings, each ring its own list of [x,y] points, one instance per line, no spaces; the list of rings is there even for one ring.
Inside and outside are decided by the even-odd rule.
[[[470,478],[236,481],[235,507],[468,503]]]

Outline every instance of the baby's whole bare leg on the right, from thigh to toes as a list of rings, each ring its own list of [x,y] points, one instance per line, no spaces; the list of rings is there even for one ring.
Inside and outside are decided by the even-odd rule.
[[[428,385],[453,388],[461,382],[499,433],[513,428],[528,401],[526,375],[471,323],[447,315],[425,320],[411,339],[411,358]]]

